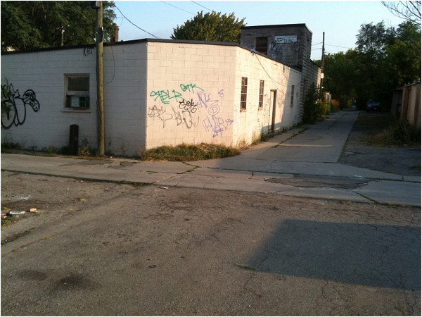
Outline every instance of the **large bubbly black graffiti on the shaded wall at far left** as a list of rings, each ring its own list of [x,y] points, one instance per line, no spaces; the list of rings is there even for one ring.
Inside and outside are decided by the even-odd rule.
[[[27,89],[21,96],[12,84],[1,85],[1,127],[9,129],[13,125],[23,125],[27,106],[34,112],[39,111],[40,106],[34,90]]]

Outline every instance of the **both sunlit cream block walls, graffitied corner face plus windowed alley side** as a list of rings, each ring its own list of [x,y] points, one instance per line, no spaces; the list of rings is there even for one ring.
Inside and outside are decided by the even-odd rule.
[[[274,132],[299,122],[301,73],[238,46],[148,42],[147,77],[148,149],[184,142],[250,144],[271,129],[271,89],[277,92]],[[245,111],[242,77],[248,77]]]

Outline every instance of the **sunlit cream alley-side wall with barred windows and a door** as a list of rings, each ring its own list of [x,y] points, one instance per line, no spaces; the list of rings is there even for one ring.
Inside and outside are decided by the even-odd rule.
[[[250,144],[261,135],[292,128],[299,123],[301,73],[281,63],[236,48],[236,95],[234,99],[234,144]],[[248,78],[246,109],[241,111],[241,80]],[[264,104],[259,108],[260,80],[264,80]],[[291,87],[295,86],[293,106]],[[271,90],[276,92],[276,106],[271,102]]]

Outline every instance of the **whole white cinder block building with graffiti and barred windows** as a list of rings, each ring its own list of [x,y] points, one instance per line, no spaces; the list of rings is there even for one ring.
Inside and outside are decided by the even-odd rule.
[[[103,64],[109,153],[250,144],[302,118],[303,70],[238,44],[117,42]],[[3,53],[1,85],[1,142],[65,147],[78,125],[79,147],[97,147],[95,46]]]

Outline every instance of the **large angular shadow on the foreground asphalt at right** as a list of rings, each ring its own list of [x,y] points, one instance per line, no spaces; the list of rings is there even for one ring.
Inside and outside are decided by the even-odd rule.
[[[257,271],[421,290],[421,228],[285,220],[248,264]]]

